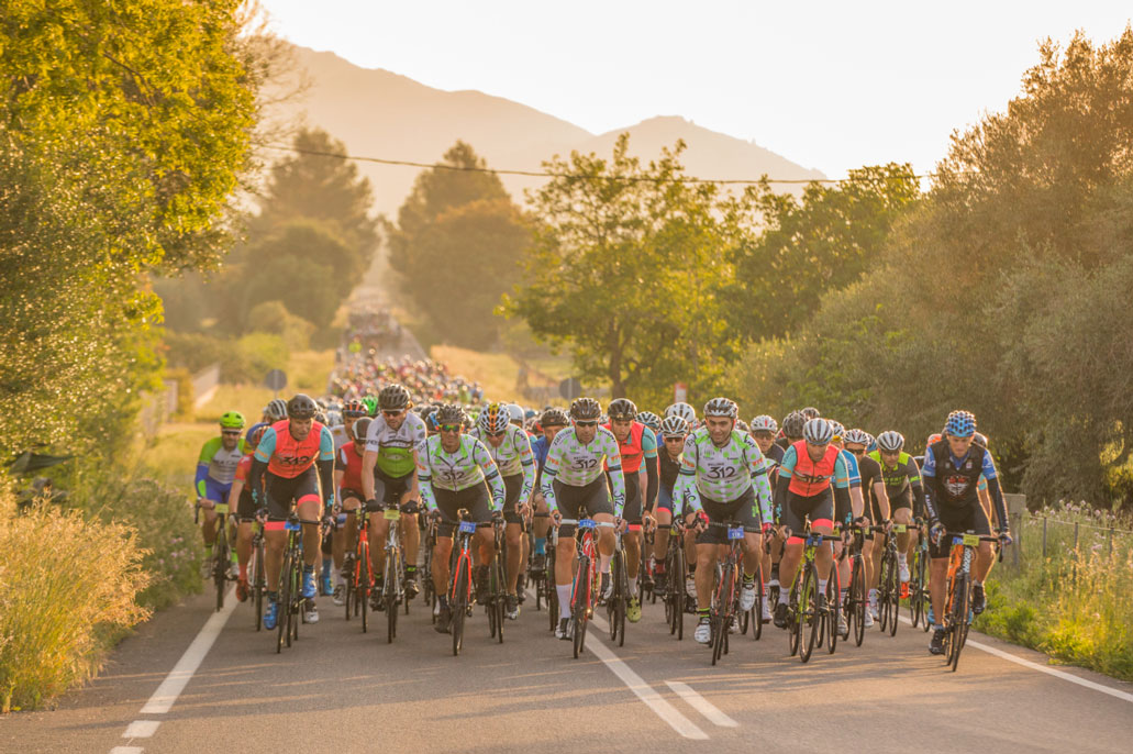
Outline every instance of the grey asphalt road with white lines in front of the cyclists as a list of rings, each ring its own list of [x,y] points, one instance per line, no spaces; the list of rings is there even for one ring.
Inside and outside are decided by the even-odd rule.
[[[768,626],[759,642],[735,636],[714,668],[691,639],[691,617],[678,642],[657,604],[622,647],[604,622],[591,626],[574,660],[528,600],[502,645],[477,610],[454,658],[419,601],[390,645],[384,624],[363,634],[321,598],[322,620],[278,655],[247,604],[214,613],[212,602],[157,615],[57,710],[0,718],[0,751],[1133,751],[1133,687],[1013,662],[976,645],[1046,667],[1038,653],[980,635],[957,673],[908,624],[895,638],[871,629],[861,647],[816,650],[806,666]]]

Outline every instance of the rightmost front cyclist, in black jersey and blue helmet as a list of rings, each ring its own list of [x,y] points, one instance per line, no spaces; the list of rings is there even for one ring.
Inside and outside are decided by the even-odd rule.
[[[944,598],[948,578],[948,554],[952,542],[946,532],[974,532],[989,536],[991,523],[980,506],[977,485],[980,475],[988,483],[988,492],[999,516],[997,534],[1004,544],[1011,544],[1007,528],[1007,506],[999,488],[995,460],[986,448],[973,442],[976,416],[970,412],[953,412],[945,425],[945,439],[925,450],[925,509],[929,517],[929,593],[932,615],[936,616],[929,652],[944,654]],[[990,542],[980,542],[972,569],[972,612],[980,615],[986,607],[983,579],[991,570]]]

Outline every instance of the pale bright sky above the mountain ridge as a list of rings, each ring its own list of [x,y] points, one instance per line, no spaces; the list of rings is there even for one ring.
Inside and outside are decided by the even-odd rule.
[[[594,133],[682,116],[833,177],[891,160],[930,170],[953,129],[1020,92],[1039,40],[1109,41],[1133,15],[1117,0],[263,5],[282,36],[366,68]]]

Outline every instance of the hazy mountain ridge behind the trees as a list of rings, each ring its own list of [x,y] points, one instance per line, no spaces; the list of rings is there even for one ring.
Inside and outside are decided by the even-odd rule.
[[[489,167],[539,170],[540,162],[572,150],[608,155],[622,132],[642,159],[683,138],[687,175],[698,178],[823,178],[751,142],[719,134],[680,117],[650,118],[634,126],[595,135],[518,102],[482,92],[445,92],[382,69],[360,68],[332,52],[295,46],[307,74],[301,98],[271,112],[276,120],[300,119],[325,129],[353,155],[433,163],[459,138],[472,145]],[[397,215],[420,168],[359,162],[374,187],[374,209]],[[538,178],[501,176],[517,201]]]

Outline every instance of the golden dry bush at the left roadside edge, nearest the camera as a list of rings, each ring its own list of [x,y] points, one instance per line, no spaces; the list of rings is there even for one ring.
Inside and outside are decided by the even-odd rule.
[[[119,632],[148,616],[137,532],[41,505],[0,514],[0,712],[90,678]]]

